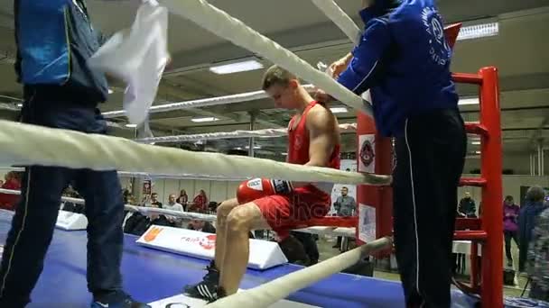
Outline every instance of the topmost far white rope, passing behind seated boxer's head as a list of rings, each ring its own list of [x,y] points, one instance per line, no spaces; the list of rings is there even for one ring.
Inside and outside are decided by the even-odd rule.
[[[303,85],[308,91],[312,91],[314,86],[312,85]],[[179,102],[179,103],[170,103],[170,104],[157,104],[149,108],[149,113],[165,113],[173,110],[182,110],[182,109],[191,109],[191,108],[200,108],[200,107],[209,107],[219,104],[237,104],[244,103],[249,101],[256,101],[259,99],[268,98],[269,96],[265,91],[253,91],[246,93],[239,93],[237,95],[225,95],[225,96],[216,96],[208,98],[200,98],[191,101]],[[116,118],[119,116],[126,115],[125,110],[116,110],[101,113],[105,118]]]

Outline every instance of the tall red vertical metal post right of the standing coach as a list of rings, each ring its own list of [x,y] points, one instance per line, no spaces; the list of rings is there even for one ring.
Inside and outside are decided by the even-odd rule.
[[[482,306],[503,307],[503,213],[501,121],[499,111],[498,69],[481,68],[480,124],[488,137],[483,138],[480,151],[480,173],[486,179],[482,187],[482,230],[487,239],[482,247]]]

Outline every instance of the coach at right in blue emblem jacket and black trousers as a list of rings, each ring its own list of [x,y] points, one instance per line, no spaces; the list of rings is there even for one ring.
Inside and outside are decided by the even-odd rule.
[[[466,134],[451,48],[433,0],[363,0],[358,46],[338,82],[370,89],[377,131],[395,137],[394,230],[408,307],[450,307],[451,242]],[[330,100],[322,91],[317,98]]]

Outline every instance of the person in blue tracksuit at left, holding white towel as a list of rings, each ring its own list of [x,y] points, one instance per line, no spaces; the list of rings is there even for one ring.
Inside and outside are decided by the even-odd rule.
[[[107,80],[86,64],[100,40],[84,0],[14,0],[14,16],[15,70],[24,96],[22,121],[106,133],[98,104],[107,99]],[[86,199],[91,306],[149,307],[122,290],[119,267],[124,203],[116,171],[40,166],[29,166],[24,172],[22,199],[0,268],[0,307],[20,308],[31,301],[51,242],[61,193],[70,182]]]

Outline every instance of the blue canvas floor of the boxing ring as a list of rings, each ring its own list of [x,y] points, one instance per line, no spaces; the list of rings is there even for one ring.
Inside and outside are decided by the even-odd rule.
[[[0,244],[5,243],[11,216],[9,212],[0,211]],[[135,240],[137,237],[126,235],[122,273],[126,291],[136,299],[151,303],[171,297],[179,294],[183,285],[199,281],[204,275],[205,260],[147,249],[136,245]],[[88,306],[91,296],[86,286],[86,241],[85,231],[55,231],[29,307]],[[265,271],[248,269],[241,287],[261,285],[300,268],[284,265]],[[459,292],[454,292],[453,297],[455,307],[472,306]],[[288,299],[319,307],[404,307],[399,283],[348,274],[330,276]]]

